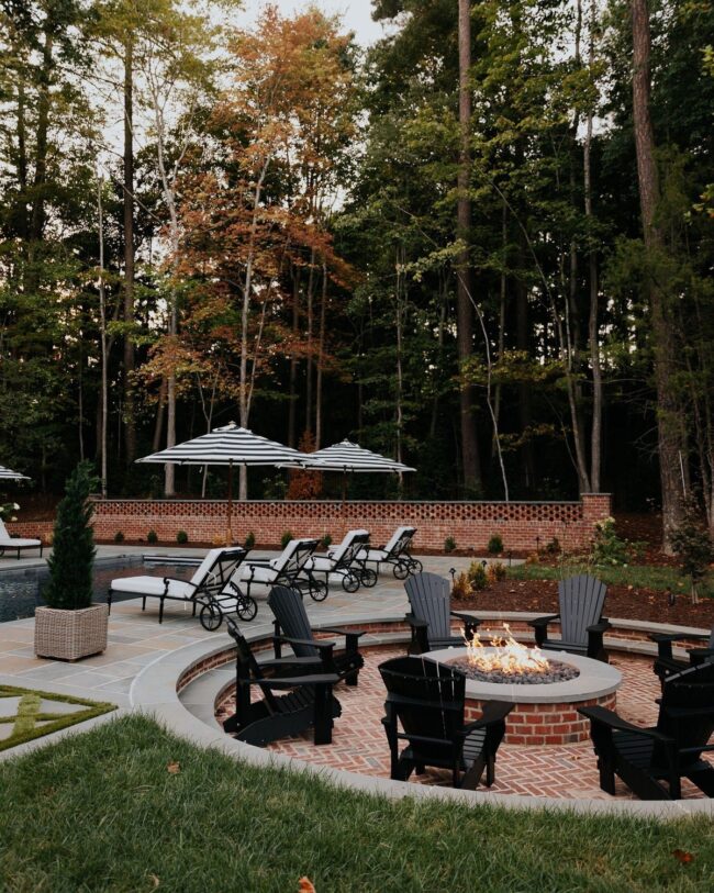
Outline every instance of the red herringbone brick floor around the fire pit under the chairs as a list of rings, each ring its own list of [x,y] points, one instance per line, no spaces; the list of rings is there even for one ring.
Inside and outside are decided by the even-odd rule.
[[[365,651],[366,666],[355,689],[339,685],[336,690],[343,714],[335,721],[333,744],[315,747],[311,734],[289,738],[270,745],[270,750],[295,757],[316,766],[389,778],[389,748],[380,718],[383,715],[384,687],[377,666],[402,650],[372,648]],[[657,718],[655,699],[659,683],[651,670],[651,660],[615,656],[611,662],[623,674],[623,687],[617,695],[620,715],[637,725],[651,725]],[[219,715],[233,712],[232,697],[227,697]],[[510,717],[509,721],[510,722]],[[412,775],[412,782],[448,784],[447,773],[427,770],[424,775]],[[486,792],[486,788],[480,788]],[[589,741],[571,745],[523,747],[504,743],[499,750],[497,781],[491,792],[525,796],[558,799],[596,797],[611,800],[600,790],[598,769]],[[618,797],[631,797],[629,790],[616,782]],[[689,782],[683,783],[684,797],[702,796]]]

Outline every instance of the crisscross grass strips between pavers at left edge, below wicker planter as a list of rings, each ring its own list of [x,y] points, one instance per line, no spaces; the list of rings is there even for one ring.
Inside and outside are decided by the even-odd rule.
[[[0,750],[8,750],[34,738],[42,738],[60,728],[74,726],[76,723],[83,723],[102,713],[116,710],[114,704],[97,701],[85,701],[79,697],[71,697],[67,694],[54,694],[52,692],[41,692],[34,689],[16,689],[13,685],[0,685],[0,699],[20,697],[18,713],[14,716],[0,716],[0,723],[13,723],[12,734],[0,739]],[[42,701],[57,701],[63,704],[77,704],[85,710],[68,714],[41,713]],[[42,725],[37,725],[42,723]]]

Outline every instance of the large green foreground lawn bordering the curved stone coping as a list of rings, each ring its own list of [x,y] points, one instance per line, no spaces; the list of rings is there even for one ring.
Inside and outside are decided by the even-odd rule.
[[[711,889],[714,866],[703,816],[394,803],[247,767],[140,716],[0,764],[0,802],[8,893],[297,893],[303,875],[317,893],[684,892]]]

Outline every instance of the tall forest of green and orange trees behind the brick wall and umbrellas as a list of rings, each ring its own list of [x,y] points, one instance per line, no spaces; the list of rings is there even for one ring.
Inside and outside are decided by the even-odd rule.
[[[0,0],[0,462],[223,495],[134,460],[234,420],[714,528],[712,3],[371,5]]]

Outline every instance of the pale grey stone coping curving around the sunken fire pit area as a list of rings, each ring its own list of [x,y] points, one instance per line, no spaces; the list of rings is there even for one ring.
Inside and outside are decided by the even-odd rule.
[[[403,619],[399,617],[399,619]],[[386,617],[359,616],[341,617],[339,625],[383,623]],[[326,625],[326,624],[325,624]],[[270,627],[263,624],[247,633],[249,641],[265,638]],[[714,817],[714,801],[711,799],[685,801],[640,801],[640,800],[578,800],[567,801],[555,797],[529,797],[514,794],[490,794],[480,791],[461,791],[454,788],[429,788],[425,784],[405,784],[391,779],[360,775],[328,767],[316,766],[236,741],[220,730],[193,716],[179,701],[178,680],[197,663],[211,655],[225,651],[231,645],[227,634],[216,634],[215,638],[190,643],[168,655],[157,658],[146,666],[134,680],[130,691],[130,703],[135,711],[149,713],[159,723],[166,724],[174,733],[188,738],[200,747],[214,748],[235,760],[264,769],[288,769],[312,774],[316,781],[334,784],[390,800],[404,800],[428,804],[436,801],[456,802],[466,806],[503,806],[505,808],[533,810],[540,812],[556,810],[567,814],[585,815],[628,815],[639,818],[671,821],[691,815]]]

